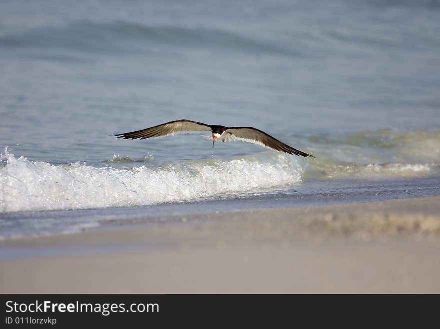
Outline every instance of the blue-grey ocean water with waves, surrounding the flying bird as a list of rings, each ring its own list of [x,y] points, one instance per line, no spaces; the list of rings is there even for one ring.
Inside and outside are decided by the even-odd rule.
[[[440,195],[439,1],[3,1],[0,236]],[[299,158],[198,134],[253,126]]]

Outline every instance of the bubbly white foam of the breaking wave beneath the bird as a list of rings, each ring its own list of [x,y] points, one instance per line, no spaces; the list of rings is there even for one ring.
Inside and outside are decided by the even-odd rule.
[[[84,163],[52,165],[6,152],[0,167],[0,212],[151,205],[247,192],[298,183],[297,159],[283,154],[233,160],[205,159],[96,168]]]

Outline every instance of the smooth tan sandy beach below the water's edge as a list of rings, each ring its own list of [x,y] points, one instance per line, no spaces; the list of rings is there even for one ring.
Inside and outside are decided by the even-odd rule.
[[[440,292],[440,197],[0,241],[2,293]]]

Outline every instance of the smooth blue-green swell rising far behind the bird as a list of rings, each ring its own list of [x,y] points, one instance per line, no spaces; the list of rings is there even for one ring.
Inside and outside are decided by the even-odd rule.
[[[227,52],[279,56],[303,56],[298,51],[270,40],[255,39],[213,28],[148,26],[131,22],[78,22],[67,26],[36,28],[22,34],[0,37],[0,47],[11,49],[56,49],[86,53],[112,52],[145,54],[157,47],[213,48]]]

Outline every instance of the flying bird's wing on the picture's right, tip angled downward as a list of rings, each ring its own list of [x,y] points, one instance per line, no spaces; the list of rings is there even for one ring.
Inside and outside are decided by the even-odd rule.
[[[294,149],[276,138],[266,134],[265,132],[252,127],[231,127],[227,128],[221,137],[225,142],[240,140],[243,142],[258,144],[271,148],[275,151],[285,152],[288,154],[296,154],[297,156],[313,157],[311,154]]]

